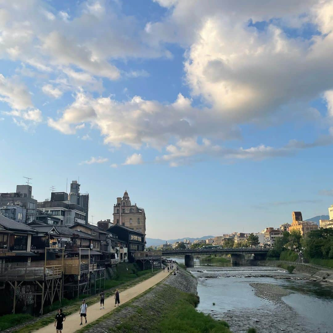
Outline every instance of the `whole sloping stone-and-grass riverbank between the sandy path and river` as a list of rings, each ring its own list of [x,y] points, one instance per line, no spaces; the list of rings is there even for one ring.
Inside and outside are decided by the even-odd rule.
[[[180,269],[164,281],[78,332],[207,332],[231,333],[224,321],[197,312],[197,280]]]

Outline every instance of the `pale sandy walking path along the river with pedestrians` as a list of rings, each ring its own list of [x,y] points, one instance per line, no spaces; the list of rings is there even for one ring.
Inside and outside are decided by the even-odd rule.
[[[168,264],[168,265],[170,265],[170,264]],[[176,265],[173,264],[173,268],[175,268],[175,266]],[[119,295],[120,296],[120,305],[128,302],[129,300],[131,300],[134,297],[137,297],[138,295],[140,295],[147,289],[149,289],[149,288],[153,287],[155,284],[161,282],[169,274],[170,273],[168,273],[167,268],[165,269],[165,272],[163,272],[163,269],[162,269],[162,271],[160,273],[157,273],[156,275],[152,276],[151,278],[149,278],[143,282],[140,282],[139,284],[135,285],[134,287],[128,288],[128,289],[124,290],[123,292],[120,289],[119,290],[120,291],[120,295]],[[100,302],[88,306],[88,308],[87,308],[88,323],[87,324],[92,323],[96,319],[104,316],[106,313],[116,309],[115,300],[114,300],[113,296],[106,298],[104,303],[105,303],[104,304],[105,309],[102,309],[102,310],[100,310]],[[77,312],[66,317],[66,320],[64,321],[64,329],[62,331],[63,333],[74,333],[77,330],[79,330],[80,328],[84,327],[84,325],[86,325],[85,320],[83,318],[83,325],[80,326],[81,319],[80,319],[79,311],[80,311],[80,309],[78,309]],[[54,312],[54,316],[55,315],[56,315],[56,311]],[[34,332],[37,332],[37,333],[56,332],[56,328],[55,328],[54,322],[53,322],[53,324],[40,328]]]

